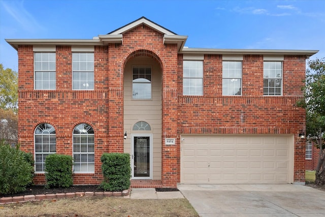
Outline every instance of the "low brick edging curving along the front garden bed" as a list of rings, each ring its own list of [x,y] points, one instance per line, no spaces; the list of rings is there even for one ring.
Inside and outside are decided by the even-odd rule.
[[[2,197],[0,198],[0,204],[9,203],[22,203],[28,201],[40,201],[40,200],[53,200],[62,198],[73,198],[73,197],[121,197],[128,196],[131,192],[130,189],[122,192],[75,192],[75,193],[56,193],[56,194],[45,194],[45,195],[25,195],[16,197]]]

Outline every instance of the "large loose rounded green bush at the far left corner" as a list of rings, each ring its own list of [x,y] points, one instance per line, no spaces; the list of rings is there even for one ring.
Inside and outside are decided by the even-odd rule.
[[[0,194],[14,194],[26,190],[32,182],[34,168],[25,160],[19,145],[12,147],[0,141]]]

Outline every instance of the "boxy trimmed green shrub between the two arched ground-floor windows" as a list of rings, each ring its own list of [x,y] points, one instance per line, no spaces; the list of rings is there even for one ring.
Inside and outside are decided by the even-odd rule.
[[[73,159],[63,154],[50,154],[45,159],[46,188],[69,188],[73,185]]]

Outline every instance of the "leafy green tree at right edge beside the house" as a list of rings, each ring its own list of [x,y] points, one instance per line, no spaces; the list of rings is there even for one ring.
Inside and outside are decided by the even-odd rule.
[[[315,183],[325,185],[325,58],[308,61],[303,90],[305,98],[298,106],[306,109],[307,140],[319,148]]]

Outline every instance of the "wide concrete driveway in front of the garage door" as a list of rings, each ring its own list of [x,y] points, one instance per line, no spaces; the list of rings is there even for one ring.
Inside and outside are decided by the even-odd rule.
[[[325,192],[296,184],[179,184],[202,217],[325,216]]]

